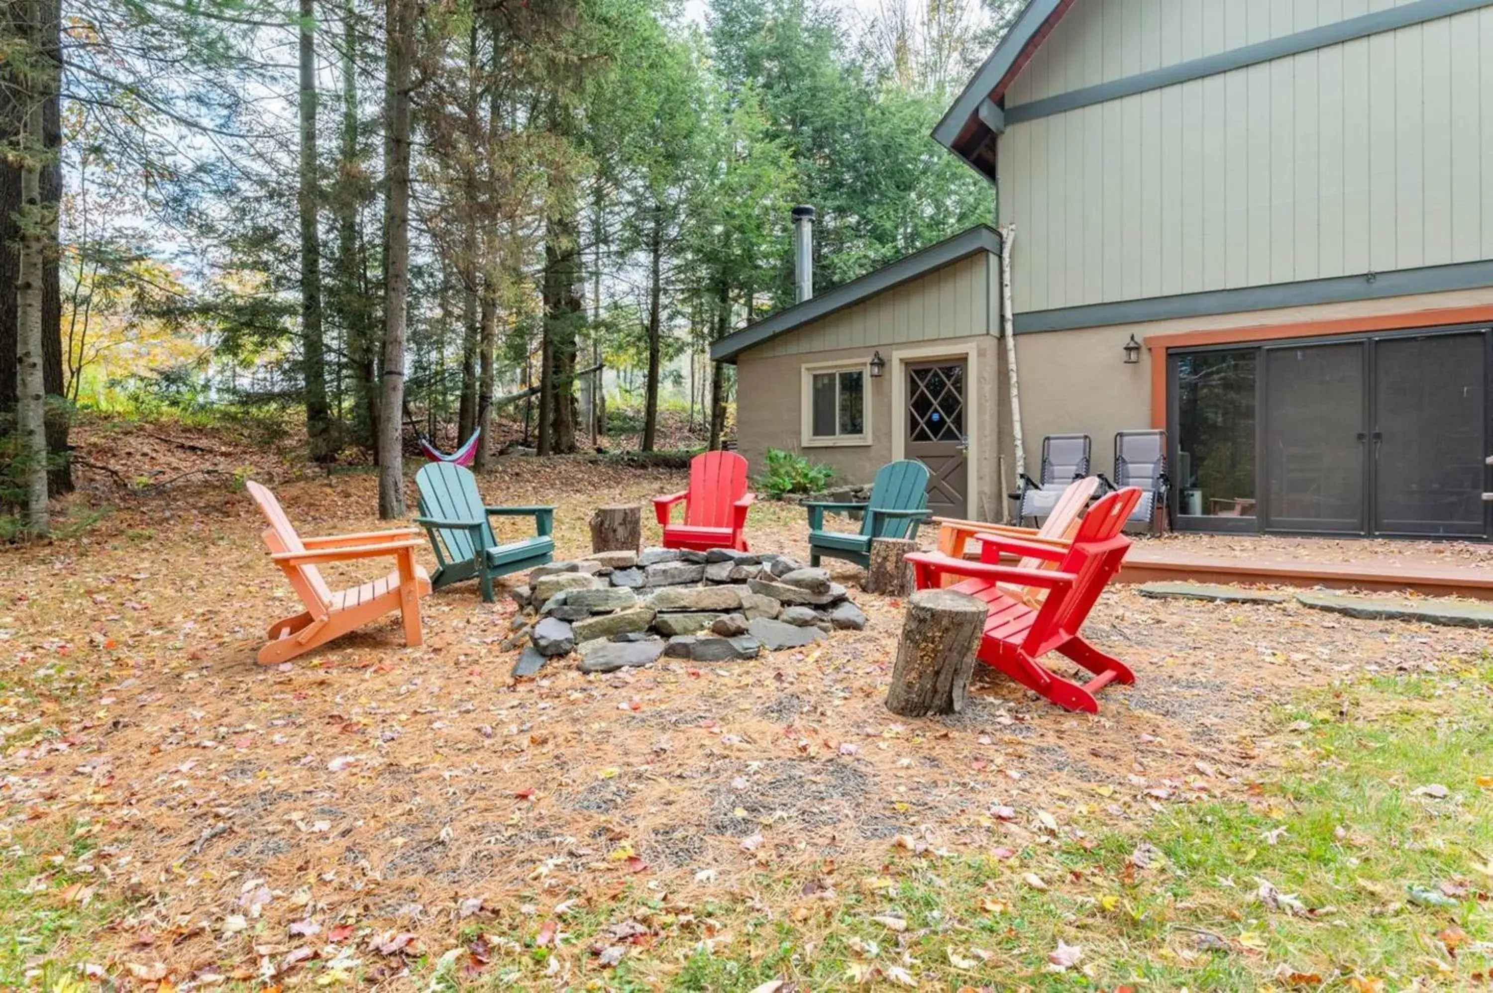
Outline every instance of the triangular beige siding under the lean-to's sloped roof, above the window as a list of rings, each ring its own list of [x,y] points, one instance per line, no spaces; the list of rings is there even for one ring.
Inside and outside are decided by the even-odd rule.
[[[893,287],[745,352],[754,358],[990,334],[999,329],[997,260],[979,252]],[[869,358],[869,352],[867,352]],[[805,358],[808,361],[808,358]]]

